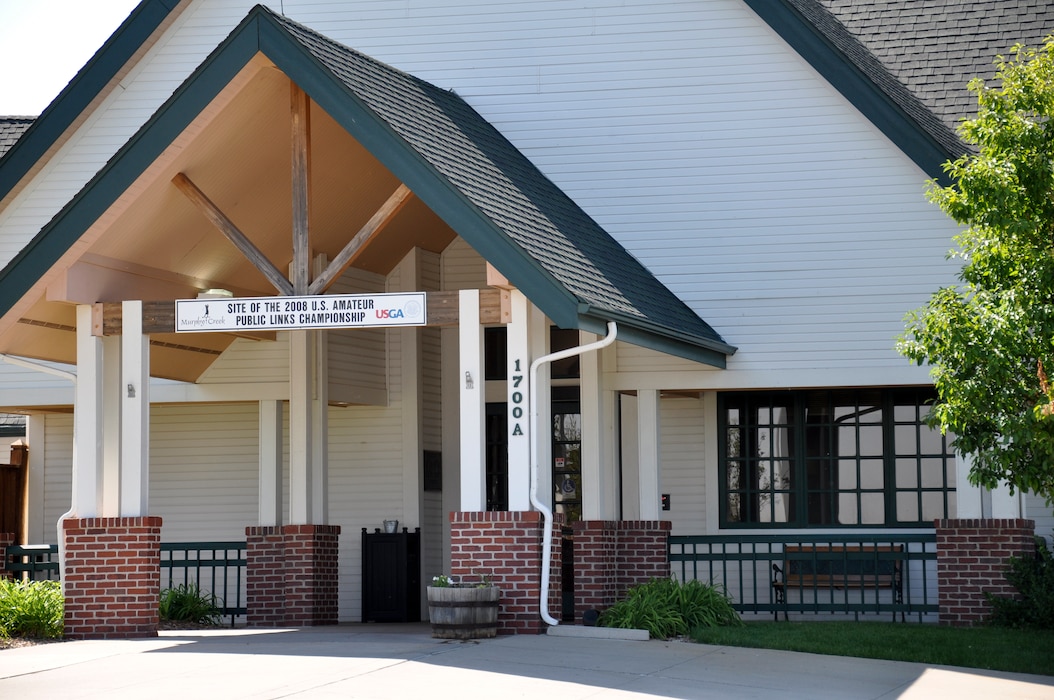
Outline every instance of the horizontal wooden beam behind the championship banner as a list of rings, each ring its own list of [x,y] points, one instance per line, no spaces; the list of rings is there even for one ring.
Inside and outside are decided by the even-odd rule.
[[[428,309],[427,326],[454,326],[457,324],[457,292],[428,292],[426,298]],[[502,291],[497,289],[480,290],[480,323],[488,326],[508,323],[502,313]],[[103,302],[93,305],[92,331],[94,335],[120,335],[121,303]],[[143,302],[142,332],[148,335],[176,332],[176,303]],[[223,331],[227,332],[227,331]],[[273,331],[252,333],[230,333],[255,339],[274,336]]]

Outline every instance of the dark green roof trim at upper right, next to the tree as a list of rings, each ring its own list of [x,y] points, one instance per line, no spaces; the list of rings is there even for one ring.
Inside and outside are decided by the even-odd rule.
[[[837,18],[813,0],[743,1],[928,176],[950,183],[943,164],[963,144]]]

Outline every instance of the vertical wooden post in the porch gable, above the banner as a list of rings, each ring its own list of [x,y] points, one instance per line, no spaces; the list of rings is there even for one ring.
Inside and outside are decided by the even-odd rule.
[[[311,104],[307,93],[290,82],[293,166],[293,294],[308,293],[311,265],[308,205],[311,200]]]

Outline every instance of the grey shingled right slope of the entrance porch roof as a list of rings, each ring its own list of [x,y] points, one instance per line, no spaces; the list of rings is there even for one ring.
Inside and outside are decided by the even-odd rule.
[[[260,9],[580,305],[734,351],[461,97]]]

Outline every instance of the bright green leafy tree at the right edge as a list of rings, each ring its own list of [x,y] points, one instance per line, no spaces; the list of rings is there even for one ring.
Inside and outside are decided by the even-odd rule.
[[[898,350],[932,366],[931,425],[974,455],[970,481],[1054,499],[1054,37],[997,57],[975,78],[975,152],[944,164],[928,196],[965,228],[960,284],[907,315]]]

